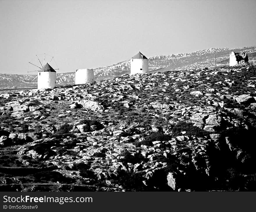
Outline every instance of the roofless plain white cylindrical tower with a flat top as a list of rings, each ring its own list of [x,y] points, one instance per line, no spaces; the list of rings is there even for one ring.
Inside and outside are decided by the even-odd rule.
[[[77,69],[75,74],[75,85],[94,83],[93,69]]]

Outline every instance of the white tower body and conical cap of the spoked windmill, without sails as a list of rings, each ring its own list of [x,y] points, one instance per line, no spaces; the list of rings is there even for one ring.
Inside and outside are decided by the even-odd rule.
[[[38,71],[37,88],[56,87],[56,71],[47,63]]]

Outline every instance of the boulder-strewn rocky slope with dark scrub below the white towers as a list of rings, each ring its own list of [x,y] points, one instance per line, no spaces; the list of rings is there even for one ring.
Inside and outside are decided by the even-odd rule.
[[[0,96],[1,191],[255,191],[256,66]]]

